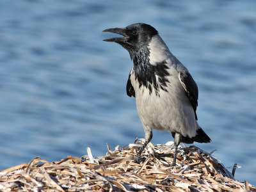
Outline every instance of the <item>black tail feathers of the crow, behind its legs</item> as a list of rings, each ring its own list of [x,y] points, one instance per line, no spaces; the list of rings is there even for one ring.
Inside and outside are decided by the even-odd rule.
[[[172,132],[172,136],[174,138],[175,136],[175,132]],[[196,131],[196,136],[193,138],[189,138],[188,136],[184,137],[182,136],[180,142],[182,143],[194,143],[194,141],[198,142],[198,143],[210,143],[211,139],[209,138],[209,136],[207,136],[207,134],[204,132],[204,130],[200,127],[200,129],[198,129]]]

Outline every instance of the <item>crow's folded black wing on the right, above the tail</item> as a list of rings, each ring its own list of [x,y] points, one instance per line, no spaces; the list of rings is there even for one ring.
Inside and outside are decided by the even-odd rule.
[[[196,108],[198,106],[197,100],[198,100],[198,88],[197,85],[194,81],[194,79],[192,78],[192,76],[189,74],[189,72],[187,71],[180,71],[179,72],[179,79],[180,79],[180,83],[182,84],[188,99],[190,100],[193,109],[195,111],[195,117],[197,120],[197,116],[196,116]]]

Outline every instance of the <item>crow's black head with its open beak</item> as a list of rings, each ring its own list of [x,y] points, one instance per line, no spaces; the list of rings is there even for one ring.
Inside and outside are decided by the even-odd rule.
[[[123,35],[124,37],[107,38],[104,39],[104,41],[116,42],[122,45],[122,47],[129,51],[131,58],[133,58],[141,48],[148,46],[152,36],[158,34],[155,28],[144,23],[131,24],[126,28],[105,29],[102,32],[110,32]]]

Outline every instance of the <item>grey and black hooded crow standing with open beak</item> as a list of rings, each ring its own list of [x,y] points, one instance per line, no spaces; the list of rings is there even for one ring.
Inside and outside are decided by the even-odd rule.
[[[145,143],[136,154],[140,162],[152,139],[152,129],[170,131],[174,138],[176,165],[179,143],[209,143],[211,139],[197,123],[198,88],[188,69],[169,51],[155,28],[136,23],[102,32],[123,35],[108,38],[129,52],[134,67],[127,81],[127,95],[135,97],[138,115],[145,130]]]

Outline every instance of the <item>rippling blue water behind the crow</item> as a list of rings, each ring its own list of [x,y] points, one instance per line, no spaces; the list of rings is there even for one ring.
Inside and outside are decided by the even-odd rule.
[[[188,1],[187,1],[188,2]],[[256,184],[256,1],[0,1],[0,170],[142,138],[132,62],[103,29],[154,26],[199,88],[196,146]],[[152,143],[173,140],[154,131]]]

